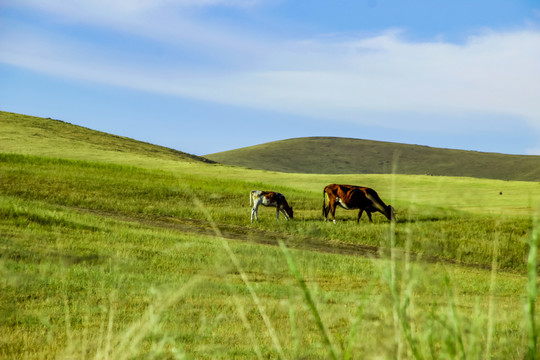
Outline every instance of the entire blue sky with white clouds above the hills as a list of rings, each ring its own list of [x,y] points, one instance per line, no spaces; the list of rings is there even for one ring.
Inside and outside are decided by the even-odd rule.
[[[538,155],[540,0],[1,0],[0,110],[196,155],[305,136]]]

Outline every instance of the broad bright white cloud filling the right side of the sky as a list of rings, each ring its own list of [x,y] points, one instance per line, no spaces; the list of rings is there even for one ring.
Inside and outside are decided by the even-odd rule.
[[[189,90],[179,84],[176,91],[350,121],[366,121],[359,120],[366,110],[493,113],[540,128],[539,32],[485,33],[464,45],[414,43],[389,33],[277,50],[258,69],[195,77]]]

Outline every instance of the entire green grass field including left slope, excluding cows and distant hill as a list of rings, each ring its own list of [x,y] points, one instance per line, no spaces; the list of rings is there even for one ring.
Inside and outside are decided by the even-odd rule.
[[[536,182],[247,170],[0,115],[1,358],[538,358]],[[323,222],[333,182],[398,221]],[[253,189],[295,219],[250,223]]]

